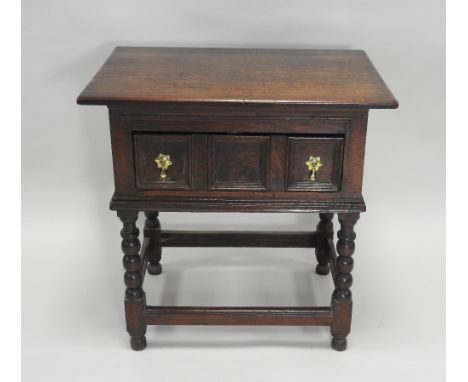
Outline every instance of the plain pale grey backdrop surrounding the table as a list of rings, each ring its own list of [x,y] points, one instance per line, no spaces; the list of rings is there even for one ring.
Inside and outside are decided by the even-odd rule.
[[[23,0],[25,381],[441,381],[445,5],[429,0]],[[349,350],[323,328],[150,327],[129,350],[104,107],[75,98],[116,45],[365,49],[400,101],[372,111]],[[4,217],[7,218],[7,217]],[[162,214],[166,228],[313,229],[307,214]],[[171,249],[150,303],[329,301],[311,251]],[[221,379],[221,373],[224,375]],[[151,376],[151,375],[154,376]]]

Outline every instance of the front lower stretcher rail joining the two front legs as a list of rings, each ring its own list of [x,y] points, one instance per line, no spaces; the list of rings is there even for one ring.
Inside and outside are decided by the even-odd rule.
[[[329,326],[330,307],[186,307],[147,306],[150,325],[299,325]]]

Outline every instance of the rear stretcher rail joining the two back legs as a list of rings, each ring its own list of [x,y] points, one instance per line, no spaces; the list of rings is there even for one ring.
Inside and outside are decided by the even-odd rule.
[[[163,247],[268,247],[313,248],[314,232],[163,231]]]

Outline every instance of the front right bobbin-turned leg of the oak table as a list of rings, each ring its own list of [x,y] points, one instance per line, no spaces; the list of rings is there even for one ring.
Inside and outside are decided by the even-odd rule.
[[[351,314],[353,300],[351,295],[351,285],[353,277],[354,253],[354,225],[359,219],[359,213],[338,214],[341,228],[338,231],[338,243],[336,251],[338,258],[335,264],[335,291],[332,296],[333,321],[331,324],[332,348],[335,350],[345,350],[346,337],[351,330]]]

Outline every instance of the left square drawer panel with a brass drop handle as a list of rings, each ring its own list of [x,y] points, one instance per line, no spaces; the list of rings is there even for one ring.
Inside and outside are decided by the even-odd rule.
[[[191,189],[191,135],[135,133],[137,189]]]

